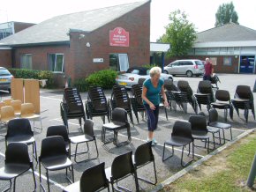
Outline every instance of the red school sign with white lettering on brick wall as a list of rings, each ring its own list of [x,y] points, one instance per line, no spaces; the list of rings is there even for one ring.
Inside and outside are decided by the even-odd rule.
[[[109,31],[109,45],[119,47],[129,47],[129,32],[122,27],[116,27]]]

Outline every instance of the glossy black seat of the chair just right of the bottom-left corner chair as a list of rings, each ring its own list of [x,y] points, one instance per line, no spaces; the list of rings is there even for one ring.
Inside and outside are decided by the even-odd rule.
[[[41,164],[50,171],[64,169],[65,167],[72,166],[72,161],[67,156],[61,155],[41,159]]]

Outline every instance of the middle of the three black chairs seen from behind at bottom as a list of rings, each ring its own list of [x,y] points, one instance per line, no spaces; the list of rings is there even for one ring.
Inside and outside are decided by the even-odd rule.
[[[124,188],[117,184],[117,188],[114,187],[114,184],[118,181],[124,180],[124,178],[134,175],[136,191],[139,191],[138,178],[136,174],[135,167],[132,164],[132,151],[124,153],[117,156],[113,162],[112,166],[105,169],[109,183],[111,184],[112,191],[121,191],[119,188],[130,191],[128,188]]]

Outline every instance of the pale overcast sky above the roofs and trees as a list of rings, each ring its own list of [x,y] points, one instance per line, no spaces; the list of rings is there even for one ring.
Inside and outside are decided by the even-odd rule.
[[[19,21],[40,23],[57,15],[77,11],[87,11],[97,8],[137,2],[139,0],[9,0],[1,1],[0,23]],[[177,9],[185,11],[188,19],[195,25],[197,32],[215,26],[215,13],[220,4],[230,3],[227,0],[152,0],[151,1],[151,36],[154,42],[169,23],[169,12]],[[238,22],[256,30],[256,1],[233,0],[238,14]]]

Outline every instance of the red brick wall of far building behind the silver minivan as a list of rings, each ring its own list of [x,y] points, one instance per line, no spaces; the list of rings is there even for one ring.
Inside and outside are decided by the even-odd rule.
[[[165,65],[174,62],[177,59],[199,59],[205,61],[206,58],[217,58],[217,63],[214,65],[215,72],[218,73],[238,73],[239,56],[237,58],[234,55],[193,55],[193,56],[173,56],[165,60]],[[227,66],[223,64],[224,57],[231,57],[232,65]]]

